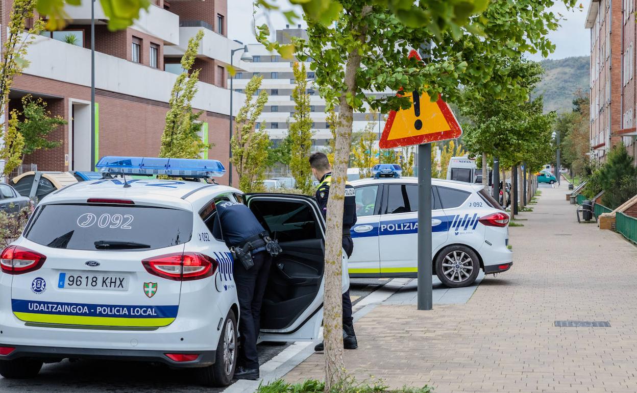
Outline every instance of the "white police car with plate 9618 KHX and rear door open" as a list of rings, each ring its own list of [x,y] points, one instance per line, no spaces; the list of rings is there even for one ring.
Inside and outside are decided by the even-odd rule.
[[[104,157],[99,167],[137,175],[224,172],[214,160],[140,157]],[[317,339],[324,221],[313,199],[118,176],[45,197],[2,252],[0,374],[30,378],[43,362],[90,357],[198,368],[202,383],[227,385],[239,310],[233,259],[211,231],[215,202],[225,200],[247,203],[283,247],[264,296],[261,339]],[[344,274],[343,291],[348,285]]]

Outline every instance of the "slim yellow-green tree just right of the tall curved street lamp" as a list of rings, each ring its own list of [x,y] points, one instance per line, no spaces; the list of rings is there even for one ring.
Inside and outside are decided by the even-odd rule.
[[[245,86],[245,102],[235,118],[233,139],[230,141],[232,162],[239,175],[239,188],[244,192],[262,189],[268,160],[268,132],[263,127],[256,127],[257,119],[268,102],[266,90],[261,90],[257,95],[262,79],[262,76],[252,76]]]

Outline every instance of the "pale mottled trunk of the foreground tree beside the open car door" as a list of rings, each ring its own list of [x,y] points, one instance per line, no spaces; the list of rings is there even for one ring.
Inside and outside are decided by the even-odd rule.
[[[355,95],[356,71],[361,64],[357,50],[348,54],[345,66],[347,90],[341,94],[336,143],[332,168],[332,182],[327,199],[327,227],[325,242],[325,297],[323,314],[323,338],[325,345],[325,391],[340,389],[345,383],[343,360],[343,305],[341,292],[341,261],[343,258],[343,202],[345,180],[350,159],[352,120],[354,110],[347,103],[347,94]]]

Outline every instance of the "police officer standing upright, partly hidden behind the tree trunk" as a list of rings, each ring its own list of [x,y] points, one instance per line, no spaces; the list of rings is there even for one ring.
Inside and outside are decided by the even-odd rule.
[[[329,164],[327,155],[323,153],[314,153],[310,155],[310,167],[312,174],[317,178],[318,185],[316,198],[323,217],[327,215],[327,196],[329,195],[329,186],[332,181],[332,166]],[[352,256],[354,252],[354,241],[350,234],[350,228],[356,224],[356,201],[354,187],[350,183],[345,182],[345,204],[343,206],[343,249],[347,257]],[[343,294],[343,347],[345,349],[358,348],[356,334],[354,332],[354,318],[352,318],[352,299],[350,299],[350,290]],[[321,342],[315,351],[323,350]]]

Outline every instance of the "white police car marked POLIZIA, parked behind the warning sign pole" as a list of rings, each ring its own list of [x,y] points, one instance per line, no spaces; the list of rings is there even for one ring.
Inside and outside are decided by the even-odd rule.
[[[352,227],[352,278],[415,277],[417,269],[417,178],[352,182],[357,222]],[[508,249],[509,216],[479,185],[432,180],[432,274],[447,287],[471,285],[478,269],[501,273],[513,264]]]

